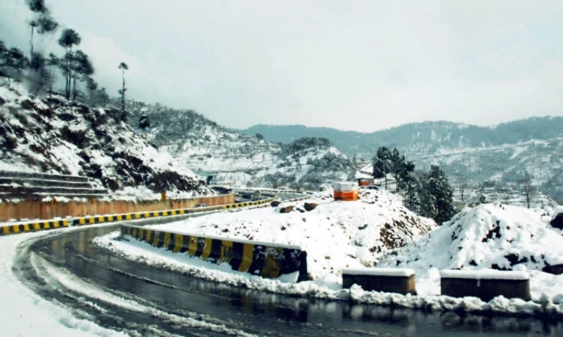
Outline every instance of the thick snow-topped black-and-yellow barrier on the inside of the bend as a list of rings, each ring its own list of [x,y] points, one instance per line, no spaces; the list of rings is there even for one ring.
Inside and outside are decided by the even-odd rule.
[[[141,226],[122,225],[121,237],[127,235],[174,253],[187,253],[188,256],[216,264],[228,263],[233,270],[239,272],[249,272],[268,279],[299,272],[297,282],[309,279],[307,253],[299,246],[163,232]]]

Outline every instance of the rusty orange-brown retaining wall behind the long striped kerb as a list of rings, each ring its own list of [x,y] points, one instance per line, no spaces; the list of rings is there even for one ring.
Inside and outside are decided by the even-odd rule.
[[[212,197],[197,197],[193,199],[169,199],[167,201],[100,201],[92,199],[86,202],[53,202],[24,200],[20,202],[0,203],[0,221],[11,219],[51,219],[67,216],[81,217],[103,214],[120,214],[164,211],[167,209],[189,209],[196,204],[217,206],[234,204],[235,194],[221,194]]]

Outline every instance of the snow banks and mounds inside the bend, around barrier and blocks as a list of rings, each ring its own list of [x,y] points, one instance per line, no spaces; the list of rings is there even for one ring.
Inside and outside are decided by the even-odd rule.
[[[294,283],[295,275],[283,279],[262,279],[233,271],[228,265],[214,265],[186,254],[155,249],[131,237],[120,240],[117,232],[95,239],[94,244],[138,263],[159,265],[195,277],[273,293],[351,299],[357,303],[422,310],[563,317],[563,293],[559,293],[563,289],[563,275],[550,275],[538,270],[542,265],[540,261],[557,263],[559,249],[563,249],[563,242],[558,244],[561,236],[556,238],[557,233],[545,225],[550,218],[548,213],[500,204],[481,205],[474,210],[466,209],[451,223],[436,228],[432,220],[410,213],[399,197],[386,191],[363,191],[361,201],[356,202],[332,201],[328,194],[315,194],[313,201],[318,202],[318,206],[310,212],[278,213],[279,207],[289,204],[293,204],[294,209],[301,208],[303,201],[300,201],[281,204],[277,208],[215,213],[152,226],[186,234],[300,245],[307,251],[311,276],[307,282]],[[498,224],[496,220],[499,220]],[[500,237],[491,239],[491,242],[481,242],[481,237],[486,237],[489,231],[496,233],[495,226],[500,227]],[[507,227],[511,227],[512,231]],[[428,230],[432,231],[421,238]],[[455,233],[458,237],[452,239]],[[415,242],[417,239],[418,242]],[[462,248],[458,249],[458,246]],[[399,249],[392,251],[393,247]],[[536,302],[498,296],[485,303],[479,298],[439,296],[439,270],[461,265],[476,269],[477,266],[469,264],[474,259],[479,261],[479,267],[493,263],[507,266],[507,259],[502,257],[505,252],[517,249],[522,251],[520,256],[529,256],[529,261],[531,256],[544,256],[541,260],[536,259],[536,263],[520,263],[514,268],[530,272],[532,296]],[[342,289],[342,269],[365,265],[396,267],[397,261],[399,267],[416,271],[418,296],[363,291],[356,285]]]

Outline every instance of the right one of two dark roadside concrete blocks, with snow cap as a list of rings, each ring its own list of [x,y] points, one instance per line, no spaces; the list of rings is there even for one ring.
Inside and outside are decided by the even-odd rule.
[[[488,302],[496,296],[530,300],[530,275],[527,272],[500,270],[441,270],[441,294],[473,296]]]

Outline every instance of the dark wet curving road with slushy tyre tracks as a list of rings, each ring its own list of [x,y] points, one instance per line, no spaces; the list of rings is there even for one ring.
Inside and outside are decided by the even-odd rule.
[[[30,240],[18,249],[16,275],[77,317],[131,336],[563,336],[558,322],[392,310],[208,282],[91,244],[115,230],[85,227]]]

